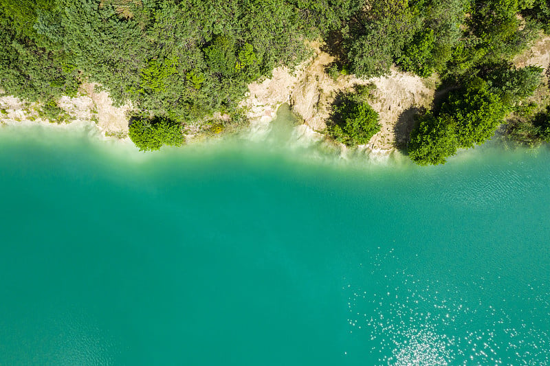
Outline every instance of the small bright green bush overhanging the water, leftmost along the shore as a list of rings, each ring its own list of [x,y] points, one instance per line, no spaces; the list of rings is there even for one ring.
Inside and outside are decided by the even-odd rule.
[[[159,150],[163,145],[181,146],[184,136],[181,126],[169,119],[135,119],[129,127],[128,135],[140,151]]]

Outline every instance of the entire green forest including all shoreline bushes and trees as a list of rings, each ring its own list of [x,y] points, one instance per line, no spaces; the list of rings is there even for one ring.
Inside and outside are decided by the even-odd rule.
[[[0,0],[0,13],[6,95],[55,118],[61,95],[96,82],[135,106],[129,135],[141,150],[181,144],[181,126],[215,112],[243,118],[247,85],[296,67],[312,40],[338,74],[368,79],[395,65],[439,77],[448,92],[417,115],[405,149],[415,163],[444,163],[507,121],[509,139],[550,142],[549,111],[526,102],[542,69],[511,63],[550,32],[547,0]],[[377,116],[344,97],[327,134],[364,144]]]

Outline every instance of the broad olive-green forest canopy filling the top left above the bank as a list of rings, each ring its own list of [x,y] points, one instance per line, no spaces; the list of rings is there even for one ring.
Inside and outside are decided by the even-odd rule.
[[[30,101],[98,82],[177,122],[233,111],[246,84],[309,55],[348,5],[283,0],[0,0],[0,85]]]

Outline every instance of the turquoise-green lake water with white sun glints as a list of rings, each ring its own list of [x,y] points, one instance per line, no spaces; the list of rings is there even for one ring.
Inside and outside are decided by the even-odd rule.
[[[0,128],[1,365],[547,365],[550,152]],[[278,148],[277,146],[281,146]]]

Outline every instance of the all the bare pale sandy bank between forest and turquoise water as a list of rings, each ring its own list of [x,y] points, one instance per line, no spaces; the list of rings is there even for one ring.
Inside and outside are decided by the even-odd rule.
[[[550,52],[544,43],[549,39],[550,37],[541,38],[536,45],[516,58],[516,64],[531,65],[549,60]],[[292,113],[302,122],[299,125],[300,130],[296,131],[296,144],[311,145],[324,140],[327,144],[336,146],[343,159],[355,154],[369,155],[374,159],[401,154],[397,146],[406,141],[412,129],[412,115],[418,108],[432,103],[436,96],[437,80],[424,80],[395,68],[387,76],[368,80],[353,75],[342,75],[333,79],[325,72],[327,65],[333,61],[333,56],[322,51],[318,42],[311,43],[311,48],[314,55],[298,65],[294,71],[287,67],[277,67],[272,71],[271,78],[256,80],[248,85],[248,92],[239,106],[245,111],[250,124],[237,127],[237,133],[248,135],[252,140],[257,139],[254,134],[269,129],[277,117],[278,108],[287,103]],[[370,103],[380,115],[382,128],[369,144],[349,149],[343,144],[329,141],[321,131],[326,127],[325,120],[329,118],[329,109],[336,93],[353,89],[354,85],[371,86]],[[63,109],[70,122],[50,122],[39,115],[38,103],[28,103],[12,95],[3,95],[0,97],[0,125],[38,124],[65,128],[80,124],[93,126],[102,139],[130,141],[128,113],[133,106],[129,103],[120,107],[113,106],[109,93],[100,91],[98,84],[83,83],[78,96],[63,96],[58,101],[58,106]],[[229,116],[214,113],[211,117],[226,121]],[[208,135],[208,129],[201,130],[200,126],[199,121],[195,126],[188,126],[191,130],[197,130],[190,131],[190,134],[184,133],[186,144],[223,138],[223,133]]]

